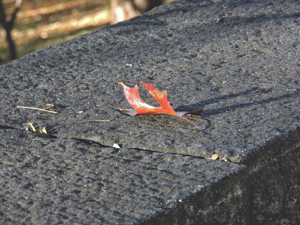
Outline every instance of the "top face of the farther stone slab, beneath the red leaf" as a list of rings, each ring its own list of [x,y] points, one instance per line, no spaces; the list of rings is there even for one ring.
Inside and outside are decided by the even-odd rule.
[[[53,135],[242,162],[299,123],[298,3],[283,10],[283,2],[178,1],[34,52],[2,68],[9,73],[1,78],[1,95],[10,96],[2,103],[5,125],[108,119]],[[169,115],[117,111],[129,105],[116,82],[133,87],[140,79],[167,90],[176,109],[206,109],[203,118],[190,116],[198,132]],[[141,96],[155,104],[146,91]],[[15,108],[45,103],[58,104],[59,113]]]

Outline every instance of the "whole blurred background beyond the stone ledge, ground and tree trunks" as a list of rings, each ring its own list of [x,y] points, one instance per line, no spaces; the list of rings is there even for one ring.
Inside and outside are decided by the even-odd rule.
[[[170,1],[0,0],[0,65]]]

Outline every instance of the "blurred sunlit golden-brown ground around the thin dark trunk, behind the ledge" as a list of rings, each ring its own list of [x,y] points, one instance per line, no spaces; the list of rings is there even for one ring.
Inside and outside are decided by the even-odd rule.
[[[15,0],[4,0],[8,16]],[[108,0],[25,0],[11,36],[18,58],[56,42],[69,40],[110,23]],[[5,30],[0,26],[0,64],[10,62]]]

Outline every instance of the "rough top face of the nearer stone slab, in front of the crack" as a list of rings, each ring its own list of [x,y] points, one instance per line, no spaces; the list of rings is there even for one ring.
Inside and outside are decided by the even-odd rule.
[[[0,132],[10,137],[0,144],[0,223],[5,224],[137,224],[175,211],[178,205],[190,207],[191,195],[204,202],[201,190],[244,167],[183,155],[91,147],[29,131]],[[224,190],[229,192],[229,187]],[[244,204],[244,193],[231,200]],[[238,218],[243,211],[241,207]],[[186,220],[183,212],[169,223]]]

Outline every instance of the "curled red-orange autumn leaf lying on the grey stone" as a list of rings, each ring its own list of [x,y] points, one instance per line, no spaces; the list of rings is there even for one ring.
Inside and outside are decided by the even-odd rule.
[[[175,112],[171,107],[171,104],[167,98],[167,91],[159,91],[156,89],[151,83],[147,83],[141,80],[141,83],[144,85],[146,90],[150,93],[150,95],[161,105],[161,107],[153,107],[146,104],[141,98],[139,94],[139,90],[137,85],[134,88],[127,87],[124,83],[119,82],[124,88],[124,95],[127,99],[128,103],[131,105],[133,109],[119,109],[124,111],[128,115],[135,116],[141,114],[170,114],[174,116],[178,116],[182,119],[187,120],[195,126],[195,131],[197,126],[194,122],[190,121],[182,117],[184,114],[194,114],[199,115],[203,110],[197,110],[192,112]]]

